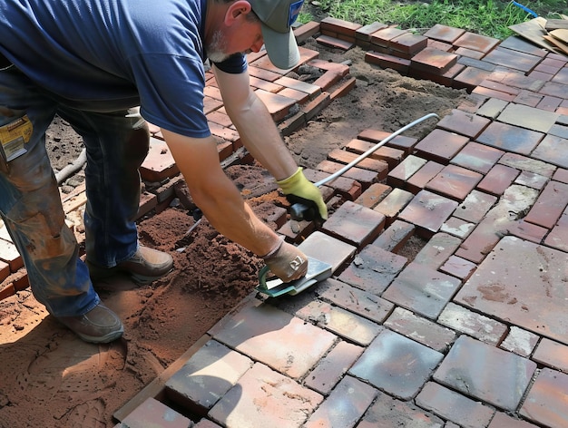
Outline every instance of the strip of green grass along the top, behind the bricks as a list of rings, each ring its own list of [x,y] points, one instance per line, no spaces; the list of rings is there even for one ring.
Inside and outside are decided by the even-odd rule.
[[[308,1],[308,0],[307,0]],[[539,16],[560,18],[568,15],[565,0],[519,1]],[[328,16],[357,24],[380,22],[397,24],[400,28],[424,32],[434,24],[445,24],[498,39],[513,34],[509,25],[534,18],[522,8],[504,0],[432,0],[431,3],[391,0],[319,0],[311,3]],[[299,16],[300,22],[311,19]]]

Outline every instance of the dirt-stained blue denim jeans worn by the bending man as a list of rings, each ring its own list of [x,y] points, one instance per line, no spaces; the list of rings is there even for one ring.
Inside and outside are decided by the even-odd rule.
[[[45,131],[58,114],[83,137],[86,257],[113,268],[138,248],[138,169],[149,149],[145,122],[128,113],[75,110],[55,101],[14,66],[0,70],[0,127],[12,127],[21,118],[33,126],[24,137],[24,154],[13,160],[0,156],[0,215],[24,259],[34,297],[54,316],[83,315],[100,299],[64,222]]]

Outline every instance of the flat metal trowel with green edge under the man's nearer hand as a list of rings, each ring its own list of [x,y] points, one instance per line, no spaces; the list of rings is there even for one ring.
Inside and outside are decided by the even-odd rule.
[[[329,263],[310,257],[308,257],[308,272],[304,277],[300,277],[294,281],[284,282],[277,277],[269,278],[269,270],[268,266],[260,269],[260,284],[256,287],[257,291],[269,297],[279,297],[284,294],[291,296],[297,295],[319,281],[331,277],[333,273],[333,267]]]

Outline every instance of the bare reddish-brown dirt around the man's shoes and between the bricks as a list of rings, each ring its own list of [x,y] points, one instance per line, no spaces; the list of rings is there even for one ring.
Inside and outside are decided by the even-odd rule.
[[[348,61],[357,86],[285,139],[304,167],[315,167],[360,131],[397,131],[429,112],[443,117],[465,96],[371,66],[358,48],[332,52],[313,40],[306,47],[318,50],[322,59]],[[435,124],[423,122],[406,135],[422,137]],[[54,122],[47,145],[55,170],[82,150],[81,140],[61,121]],[[245,190],[266,176],[250,165],[230,167],[227,173]],[[62,190],[73,190],[82,179],[80,171]],[[243,191],[246,197],[253,194]],[[249,200],[265,217],[274,207],[269,200],[278,197],[274,191]],[[142,243],[168,251],[175,260],[167,277],[147,287],[127,278],[96,284],[125,326],[123,339],[111,345],[84,344],[48,316],[29,289],[0,302],[1,427],[112,427],[116,410],[254,291],[260,259],[220,236],[206,220],[191,239],[180,242],[193,222],[181,207],[140,222]]]

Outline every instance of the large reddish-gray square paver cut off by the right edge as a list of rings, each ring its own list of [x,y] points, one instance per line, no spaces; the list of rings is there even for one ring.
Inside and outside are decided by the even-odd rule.
[[[562,251],[505,237],[455,301],[566,345],[567,266]]]

